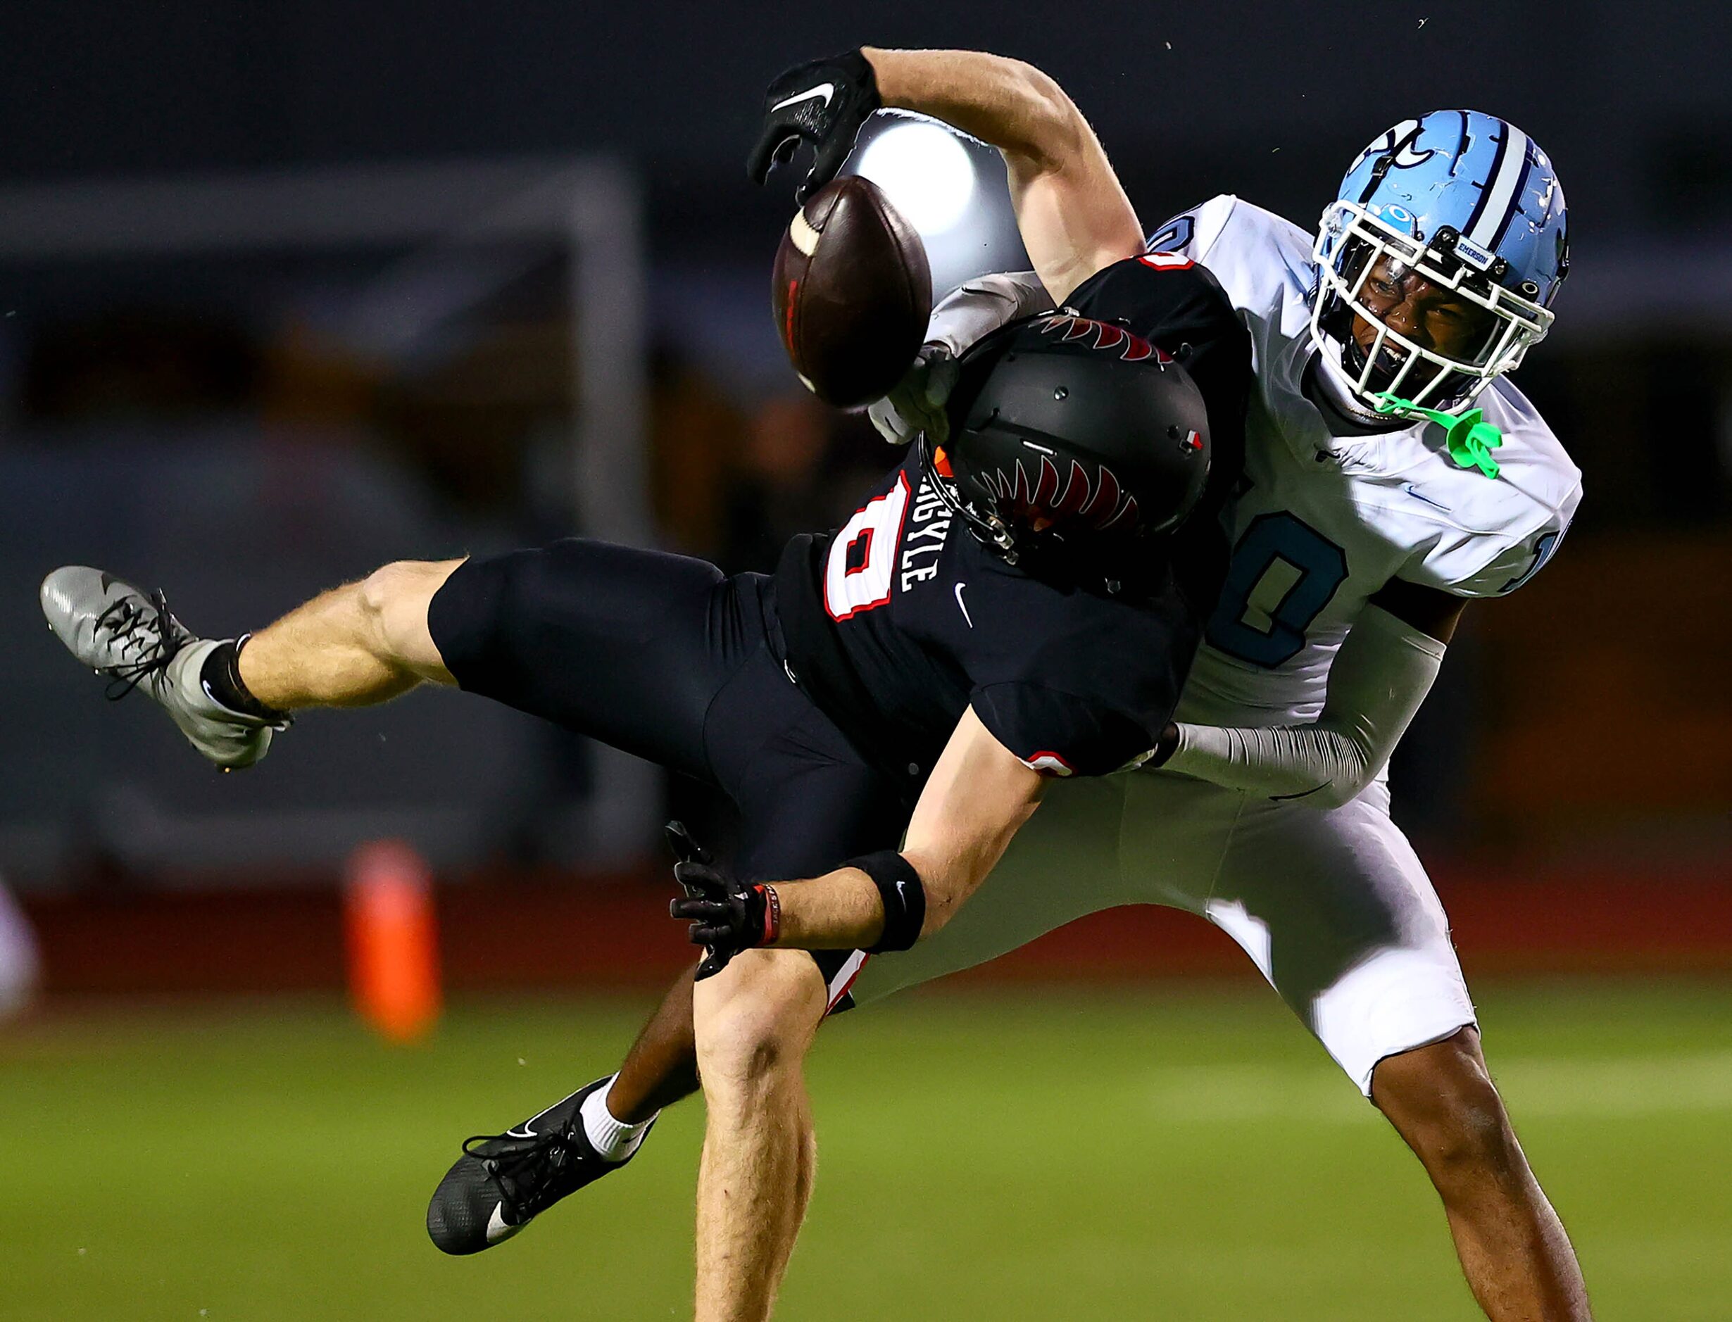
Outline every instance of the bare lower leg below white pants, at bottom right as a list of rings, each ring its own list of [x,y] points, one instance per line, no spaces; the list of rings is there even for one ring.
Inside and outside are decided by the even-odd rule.
[[[1516,1140],[1477,1029],[1380,1060],[1372,1100],[1431,1175],[1486,1317],[1590,1317],[1569,1235]]]

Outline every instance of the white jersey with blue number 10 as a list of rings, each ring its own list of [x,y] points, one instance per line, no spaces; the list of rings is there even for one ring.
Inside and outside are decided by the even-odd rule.
[[[1458,468],[1443,428],[1332,435],[1301,383],[1311,362],[1311,237],[1233,196],[1169,222],[1150,251],[1199,262],[1251,333],[1256,386],[1245,480],[1225,511],[1233,561],[1179,719],[1313,721],[1328,667],[1367,598],[1391,579],[1502,596],[1557,549],[1581,473],[1507,379],[1479,397],[1503,433],[1498,476]]]

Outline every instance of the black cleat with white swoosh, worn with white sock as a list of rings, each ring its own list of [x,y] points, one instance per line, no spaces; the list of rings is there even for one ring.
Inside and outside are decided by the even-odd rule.
[[[504,1133],[466,1138],[462,1156],[445,1171],[428,1204],[433,1244],[452,1254],[490,1249],[566,1194],[630,1161],[608,1161],[596,1152],[578,1116],[584,1098],[611,1078],[578,1088]]]

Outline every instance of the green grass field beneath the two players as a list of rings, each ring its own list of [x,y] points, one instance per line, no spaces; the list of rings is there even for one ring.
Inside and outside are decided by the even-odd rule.
[[[1732,1317],[1732,984],[1481,988],[1602,1322]],[[0,1033],[0,1317],[689,1317],[700,1109],[449,1260],[475,1130],[604,1067],[639,1005],[464,1005],[390,1050],[329,1003]],[[1413,1159],[1271,995],[927,996],[812,1062],[818,1197],[779,1317],[1467,1319]]]

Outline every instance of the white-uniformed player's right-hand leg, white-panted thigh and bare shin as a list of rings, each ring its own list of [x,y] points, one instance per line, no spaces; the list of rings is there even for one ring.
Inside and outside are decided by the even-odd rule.
[[[1420,1156],[1488,1315],[1588,1317],[1569,1241],[1479,1053],[1443,904],[1387,790],[1330,811],[1245,799],[1193,903]]]

